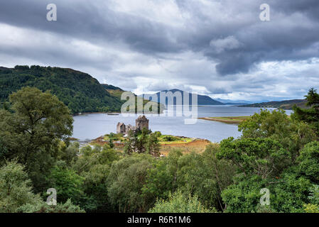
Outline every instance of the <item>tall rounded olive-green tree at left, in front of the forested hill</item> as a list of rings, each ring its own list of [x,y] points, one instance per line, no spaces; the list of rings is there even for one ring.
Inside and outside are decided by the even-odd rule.
[[[36,88],[24,87],[11,94],[10,101],[13,113],[0,110],[0,137],[8,149],[5,157],[26,165],[36,189],[43,189],[59,141],[72,135],[72,116],[56,96]]]

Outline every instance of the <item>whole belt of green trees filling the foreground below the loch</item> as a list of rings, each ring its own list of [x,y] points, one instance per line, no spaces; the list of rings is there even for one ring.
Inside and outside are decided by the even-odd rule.
[[[70,143],[70,110],[26,87],[0,110],[2,212],[319,212],[319,95],[309,109],[261,111],[242,136],[203,153],[159,157],[159,132],[129,133],[124,152]],[[58,205],[45,203],[48,188]],[[269,204],[261,204],[261,192]]]

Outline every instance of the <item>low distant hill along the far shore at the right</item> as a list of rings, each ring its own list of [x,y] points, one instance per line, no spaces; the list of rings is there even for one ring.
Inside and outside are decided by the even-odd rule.
[[[306,99],[292,99],[292,100],[284,100],[284,101],[269,101],[262,102],[259,104],[249,104],[243,105],[242,107],[261,107],[261,108],[280,108],[280,109],[293,109],[293,105],[301,108],[308,108],[306,106]]]

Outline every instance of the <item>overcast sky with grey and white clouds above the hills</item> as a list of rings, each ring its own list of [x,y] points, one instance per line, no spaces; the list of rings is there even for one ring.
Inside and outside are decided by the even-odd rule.
[[[1,0],[0,66],[15,65],[72,68],[136,94],[303,99],[319,89],[319,1]]]

